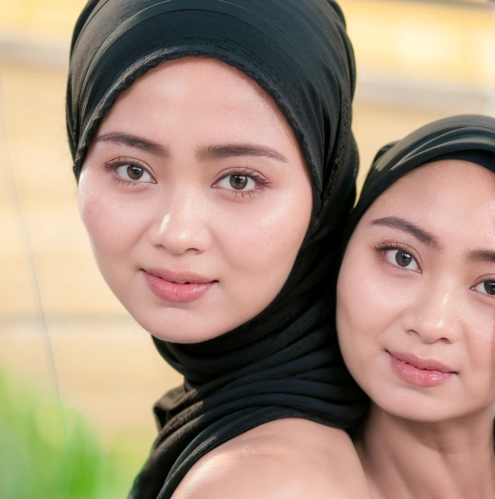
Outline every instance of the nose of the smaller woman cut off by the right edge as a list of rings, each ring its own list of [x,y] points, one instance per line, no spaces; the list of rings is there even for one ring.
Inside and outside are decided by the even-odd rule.
[[[459,299],[451,279],[425,279],[402,317],[402,328],[408,334],[417,334],[425,343],[455,343],[461,329]]]

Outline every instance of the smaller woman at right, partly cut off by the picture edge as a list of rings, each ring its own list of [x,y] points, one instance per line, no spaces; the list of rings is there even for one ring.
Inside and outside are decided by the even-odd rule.
[[[373,498],[495,497],[495,119],[384,148],[337,285],[349,371],[371,399],[356,450]]]

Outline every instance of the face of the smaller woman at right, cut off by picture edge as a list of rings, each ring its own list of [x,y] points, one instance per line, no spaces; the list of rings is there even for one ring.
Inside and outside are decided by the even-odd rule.
[[[347,246],[337,328],[352,376],[386,412],[493,418],[495,175],[438,161],[380,196]]]

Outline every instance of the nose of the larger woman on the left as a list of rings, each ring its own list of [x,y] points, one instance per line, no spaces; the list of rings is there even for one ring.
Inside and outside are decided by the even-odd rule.
[[[208,210],[200,195],[183,192],[160,200],[150,225],[148,239],[153,246],[170,253],[203,253],[211,247],[205,215]]]

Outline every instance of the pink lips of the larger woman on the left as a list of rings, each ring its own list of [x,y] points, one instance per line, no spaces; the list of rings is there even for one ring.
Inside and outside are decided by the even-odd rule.
[[[150,268],[143,270],[146,283],[159,298],[175,303],[190,303],[201,298],[217,280],[189,272]]]

